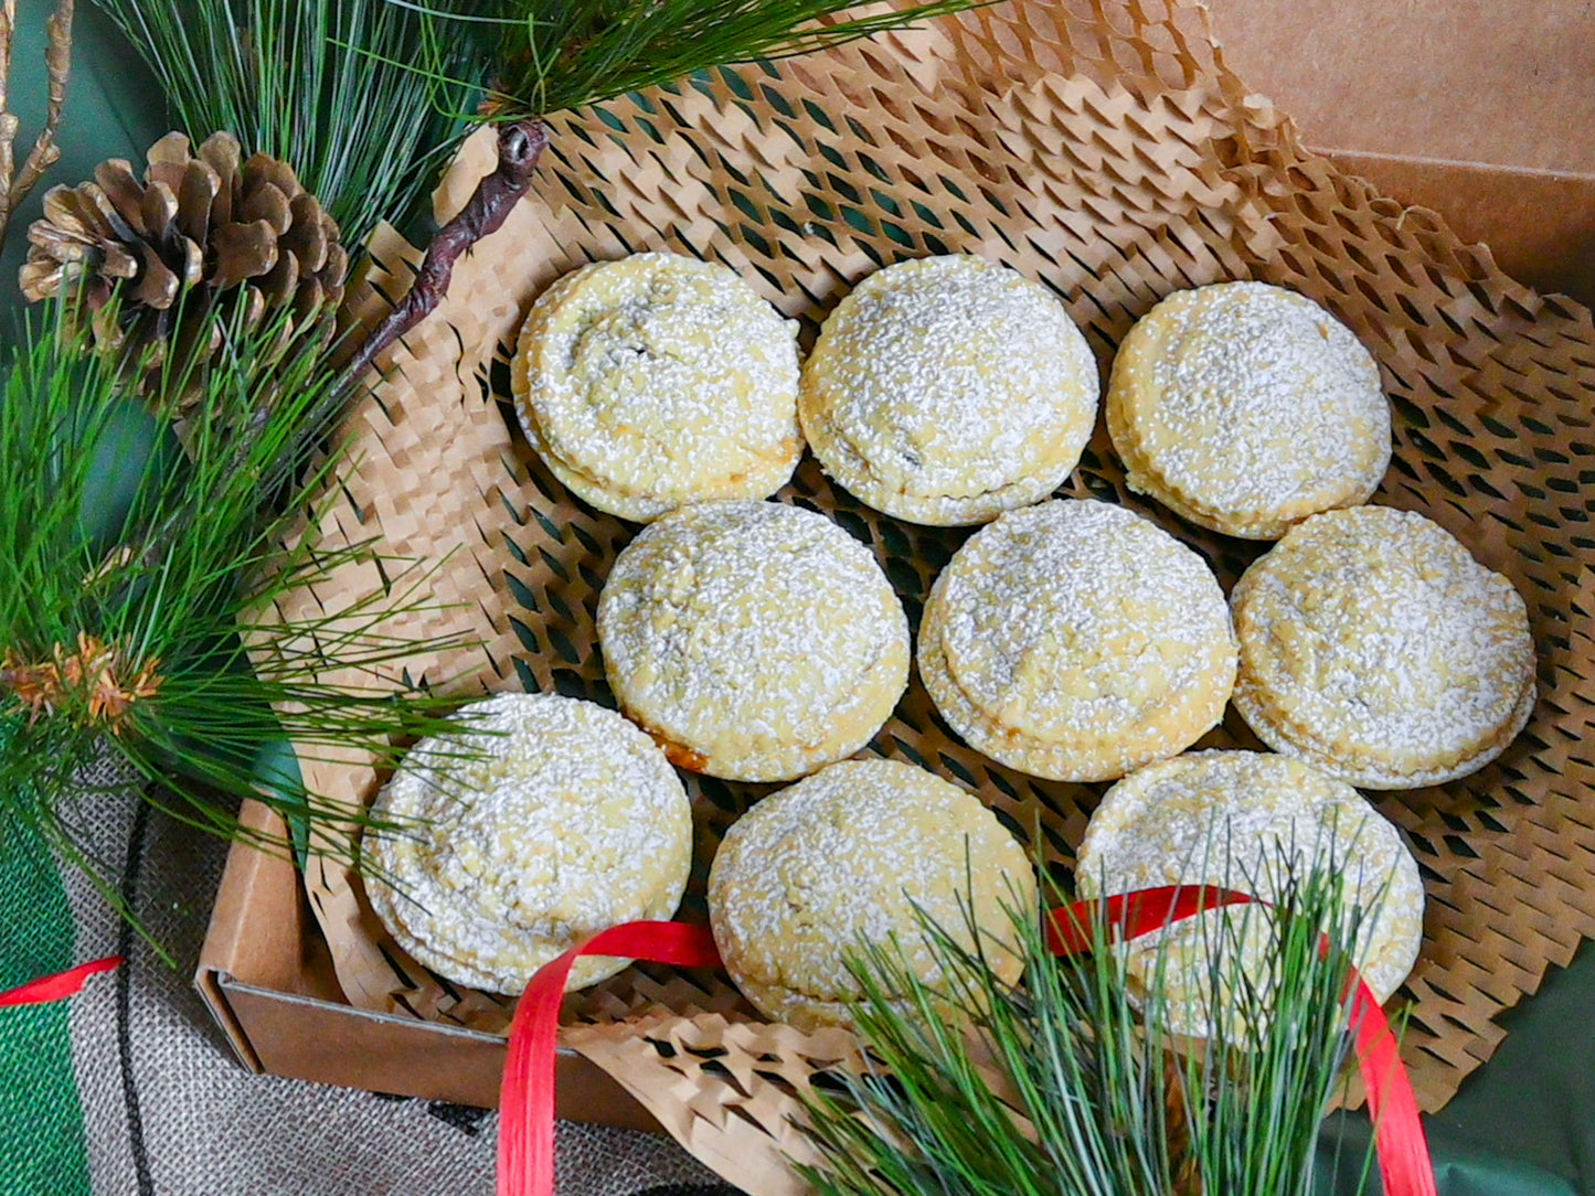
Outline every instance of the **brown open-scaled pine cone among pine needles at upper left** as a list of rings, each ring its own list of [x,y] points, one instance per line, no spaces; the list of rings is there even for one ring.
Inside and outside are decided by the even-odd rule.
[[[113,158],[94,182],[49,190],[45,218],[27,231],[27,298],[81,285],[96,344],[126,359],[148,351],[152,372],[174,351],[183,365],[214,356],[219,316],[234,303],[250,327],[290,309],[282,346],[332,329],[349,258],[337,222],[292,166],[260,153],[242,161],[226,132],[198,156],[171,132],[148,161],[142,182]]]

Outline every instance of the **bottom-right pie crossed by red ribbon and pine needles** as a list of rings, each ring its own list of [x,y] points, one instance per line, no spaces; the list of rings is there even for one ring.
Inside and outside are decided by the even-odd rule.
[[[1400,832],[1367,799],[1300,761],[1201,751],[1148,764],[1109,789],[1091,815],[1075,882],[1083,898],[1214,885],[1273,901],[1287,875],[1302,883],[1313,867],[1343,879],[1348,917],[1361,907],[1353,962],[1373,995],[1381,1003],[1389,1000],[1423,942],[1418,863]],[[1131,976],[1147,986],[1158,974],[1166,936],[1164,1021],[1174,1033],[1211,1032],[1209,952],[1220,941],[1220,920],[1239,933],[1239,962],[1247,974],[1254,982],[1265,981],[1265,922],[1239,907],[1203,914],[1166,933],[1132,939],[1128,947]],[[1349,933],[1349,927],[1343,930]]]

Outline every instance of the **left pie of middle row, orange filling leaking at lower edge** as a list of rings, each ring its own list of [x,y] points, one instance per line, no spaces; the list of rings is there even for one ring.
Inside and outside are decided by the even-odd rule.
[[[908,684],[908,619],[876,558],[777,502],[644,528],[598,598],[598,644],[625,714],[681,767],[729,780],[852,756]]]

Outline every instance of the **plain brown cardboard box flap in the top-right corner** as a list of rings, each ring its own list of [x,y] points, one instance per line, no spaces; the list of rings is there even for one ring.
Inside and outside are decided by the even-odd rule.
[[[1225,62],[1303,142],[1445,215],[1514,277],[1595,303],[1587,0],[1209,0]]]

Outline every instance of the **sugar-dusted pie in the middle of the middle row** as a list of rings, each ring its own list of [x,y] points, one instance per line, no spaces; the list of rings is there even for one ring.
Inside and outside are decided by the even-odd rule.
[[[919,671],[970,746],[1101,781],[1223,718],[1235,635],[1201,557],[1123,507],[1054,499],[959,549],[925,604]]]

